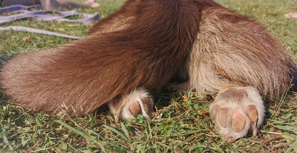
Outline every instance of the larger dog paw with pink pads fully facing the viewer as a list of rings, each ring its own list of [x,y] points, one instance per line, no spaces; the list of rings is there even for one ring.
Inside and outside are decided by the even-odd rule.
[[[223,140],[234,142],[252,131],[257,134],[264,119],[264,105],[257,89],[235,87],[222,90],[210,105],[210,117]]]

